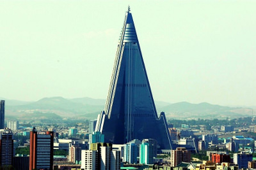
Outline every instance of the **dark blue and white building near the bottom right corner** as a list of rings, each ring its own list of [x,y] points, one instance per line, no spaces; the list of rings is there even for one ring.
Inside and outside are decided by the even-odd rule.
[[[248,168],[248,162],[252,162],[252,154],[251,153],[234,153],[234,164],[241,168]]]

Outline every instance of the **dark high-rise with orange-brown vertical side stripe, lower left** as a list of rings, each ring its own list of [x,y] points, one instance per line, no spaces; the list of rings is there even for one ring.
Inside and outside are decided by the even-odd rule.
[[[29,140],[29,170],[50,169],[53,166],[54,132],[37,134],[35,128],[30,132]]]

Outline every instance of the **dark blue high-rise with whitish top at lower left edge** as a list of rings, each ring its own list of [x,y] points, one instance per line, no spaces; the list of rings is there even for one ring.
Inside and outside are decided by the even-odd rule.
[[[0,129],[0,169],[12,166],[13,134],[11,129]]]

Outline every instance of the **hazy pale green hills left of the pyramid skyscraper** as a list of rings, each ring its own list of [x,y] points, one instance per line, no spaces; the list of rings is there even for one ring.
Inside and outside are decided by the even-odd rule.
[[[84,100],[83,100],[84,99]],[[104,108],[104,104],[99,104],[102,101],[95,101],[92,103],[93,99],[90,100],[88,97],[81,99],[65,99],[63,97],[45,97],[39,101],[10,106],[6,103],[6,117],[17,117],[19,119],[33,119],[37,118],[38,115],[44,113],[44,117],[51,118],[51,115],[56,115],[58,117],[83,117],[83,118],[97,118],[95,112],[100,113]],[[86,102],[90,101],[90,102]],[[87,104],[90,103],[90,104]],[[31,115],[33,113],[33,115]],[[92,113],[92,114],[91,114]],[[84,117],[86,115],[86,117]]]

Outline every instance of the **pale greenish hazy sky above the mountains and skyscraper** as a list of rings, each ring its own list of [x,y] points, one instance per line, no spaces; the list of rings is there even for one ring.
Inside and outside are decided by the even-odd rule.
[[[153,97],[256,105],[256,1],[0,1],[0,97],[106,99],[127,6]]]

